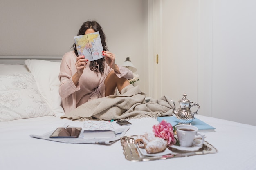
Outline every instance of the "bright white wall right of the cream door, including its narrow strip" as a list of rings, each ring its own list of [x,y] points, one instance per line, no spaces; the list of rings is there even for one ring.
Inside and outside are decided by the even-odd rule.
[[[198,0],[198,99],[205,115],[256,125],[255,6],[254,0]]]

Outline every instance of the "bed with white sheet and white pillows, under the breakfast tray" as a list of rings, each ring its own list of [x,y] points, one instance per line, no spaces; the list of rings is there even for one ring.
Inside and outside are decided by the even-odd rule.
[[[256,169],[256,126],[202,115],[196,117],[216,128],[215,132],[204,133],[205,140],[218,150],[216,153],[131,161],[124,154],[121,140],[112,144],[70,144],[32,138],[31,134],[45,134],[63,124],[82,127],[83,121],[60,119],[64,115],[58,95],[60,57],[8,58],[0,57],[1,170]],[[6,86],[17,79],[27,82],[16,83],[16,97],[23,101],[19,107],[11,102],[13,95],[6,95],[10,90]],[[26,85],[30,90],[24,88]],[[159,123],[150,117],[129,121],[132,125],[125,136],[152,132],[152,126]],[[112,124],[117,126],[115,121]]]

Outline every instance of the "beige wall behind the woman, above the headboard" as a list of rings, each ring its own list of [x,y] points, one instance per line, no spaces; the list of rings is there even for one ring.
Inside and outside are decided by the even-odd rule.
[[[89,19],[103,27],[117,64],[131,58],[147,93],[147,0],[0,0],[0,56],[63,56]]]

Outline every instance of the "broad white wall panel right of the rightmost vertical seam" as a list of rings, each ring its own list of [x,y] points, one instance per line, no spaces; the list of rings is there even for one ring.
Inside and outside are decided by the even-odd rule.
[[[256,125],[256,1],[213,1],[212,115]]]

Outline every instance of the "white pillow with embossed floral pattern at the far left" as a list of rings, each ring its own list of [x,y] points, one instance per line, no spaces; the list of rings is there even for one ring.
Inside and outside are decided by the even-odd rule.
[[[0,121],[53,116],[31,73],[0,75]]]

